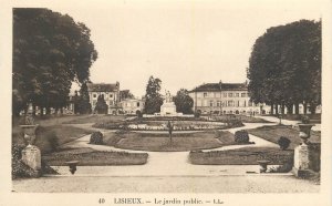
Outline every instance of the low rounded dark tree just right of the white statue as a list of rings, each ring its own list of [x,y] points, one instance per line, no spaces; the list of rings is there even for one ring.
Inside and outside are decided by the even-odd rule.
[[[173,100],[176,105],[176,112],[193,114],[194,100],[189,96],[189,92],[186,89],[180,89]]]

